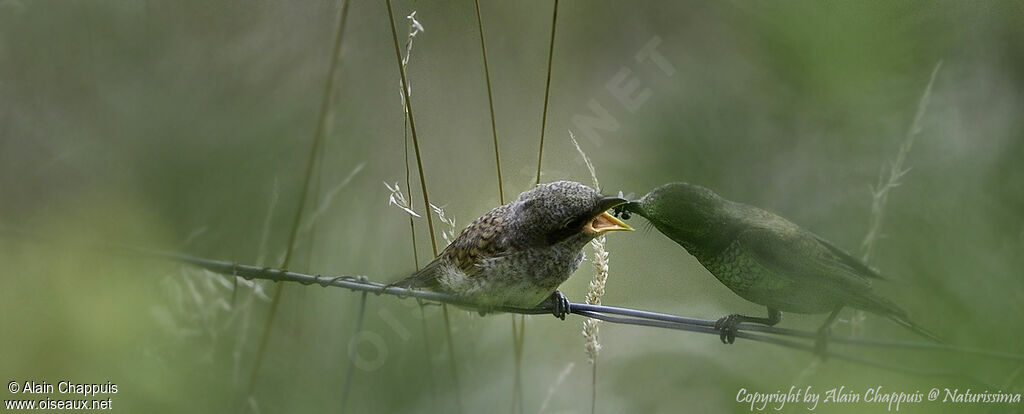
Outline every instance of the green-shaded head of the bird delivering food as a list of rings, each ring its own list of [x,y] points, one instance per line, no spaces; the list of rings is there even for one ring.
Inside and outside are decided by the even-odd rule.
[[[658,232],[692,252],[722,234],[722,226],[729,222],[728,204],[700,185],[670,182],[621,209],[643,216]]]

